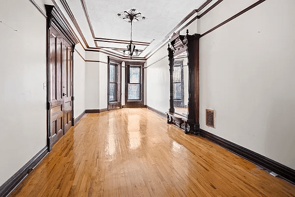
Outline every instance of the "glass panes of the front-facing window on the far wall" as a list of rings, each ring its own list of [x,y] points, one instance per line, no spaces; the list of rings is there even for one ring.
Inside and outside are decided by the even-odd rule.
[[[129,67],[128,100],[140,100],[141,92],[141,68]]]

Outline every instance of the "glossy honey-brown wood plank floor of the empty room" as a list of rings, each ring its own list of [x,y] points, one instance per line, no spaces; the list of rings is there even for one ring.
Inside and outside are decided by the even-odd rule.
[[[146,108],[86,114],[11,197],[294,197],[295,186]]]

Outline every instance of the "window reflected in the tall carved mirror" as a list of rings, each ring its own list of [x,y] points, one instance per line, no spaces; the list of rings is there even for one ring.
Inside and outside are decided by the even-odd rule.
[[[173,99],[174,100],[182,100],[183,92],[184,92],[184,84],[183,84],[183,66],[181,62],[174,63],[174,71],[173,71]]]

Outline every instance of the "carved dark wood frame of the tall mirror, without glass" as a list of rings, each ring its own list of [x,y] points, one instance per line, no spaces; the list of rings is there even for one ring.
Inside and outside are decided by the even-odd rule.
[[[170,71],[170,108],[167,114],[167,123],[177,125],[184,129],[185,133],[198,134],[199,111],[200,111],[200,87],[199,87],[199,39],[200,34],[180,35],[179,31],[173,33],[168,44],[168,58]],[[183,53],[187,53],[188,59],[188,113],[187,117],[175,113],[173,70],[174,58]]]

